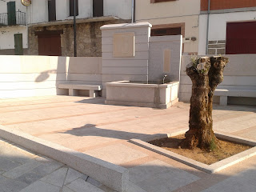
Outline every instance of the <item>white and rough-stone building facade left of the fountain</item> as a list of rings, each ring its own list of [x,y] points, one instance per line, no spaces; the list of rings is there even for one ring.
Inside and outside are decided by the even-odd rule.
[[[0,13],[7,13],[9,1],[0,3]],[[26,50],[22,54],[74,56],[74,0],[32,0],[28,7],[22,6],[20,0],[10,3],[16,4],[16,12],[26,14],[27,26],[25,23],[25,26],[0,27],[3,45],[0,54],[15,54],[10,36],[22,34],[22,50]],[[131,3],[131,0],[75,0],[77,55],[101,56],[100,27],[131,22]]]

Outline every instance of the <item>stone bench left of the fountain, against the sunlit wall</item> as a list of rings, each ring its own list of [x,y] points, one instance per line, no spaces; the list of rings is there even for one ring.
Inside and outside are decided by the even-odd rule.
[[[92,86],[80,83],[60,83],[58,84],[59,89],[68,89],[70,96],[78,95],[78,90],[89,90],[89,97],[95,98],[102,86]]]

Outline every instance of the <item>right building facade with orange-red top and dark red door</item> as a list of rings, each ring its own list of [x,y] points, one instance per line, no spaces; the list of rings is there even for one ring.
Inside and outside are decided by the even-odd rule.
[[[198,54],[256,54],[256,0],[211,0],[209,11],[208,3],[201,0]]]

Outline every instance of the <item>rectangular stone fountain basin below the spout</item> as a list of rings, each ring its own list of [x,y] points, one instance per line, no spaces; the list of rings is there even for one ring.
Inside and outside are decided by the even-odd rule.
[[[129,81],[106,83],[106,104],[167,109],[178,102],[179,82],[143,84]]]

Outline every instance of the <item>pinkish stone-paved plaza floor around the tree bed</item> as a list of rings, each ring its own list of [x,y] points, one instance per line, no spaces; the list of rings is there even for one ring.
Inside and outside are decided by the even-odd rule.
[[[110,106],[104,98],[70,96],[2,99],[0,124],[122,166],[137,192],[218,191],[226,183],[235,191],[232,183],[243,175],[250,180],[242,191],[256,189],[255,157],[207,174],[128,142],[188,128],[189,107]],[[255,106],[214,106],[213,118],[218,132],[256,139]]]

